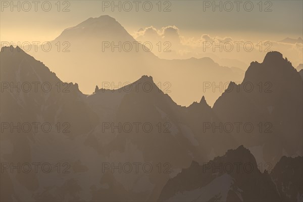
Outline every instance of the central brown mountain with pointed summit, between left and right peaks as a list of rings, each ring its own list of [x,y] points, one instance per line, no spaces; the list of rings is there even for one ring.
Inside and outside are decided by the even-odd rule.
[[[141,84],[141,85],[138,85]],[[145,88],[142,88],[143,84]],[[136,87],[138,85],[138,87]],[[126,92],[126,89],[131,89]],[[155,162],[170,165],[170,171],[177,171],[188,166],[191,160],[201,161],[206,158],[204,143],[195,139],[194,133],[187,126],[187,109],[180,107],[154,83],[152,77],[142,76],[123,89],[99,89],[87,97],[88,103],[99,116],[100,123],[115,126],[124,123],[140,123],[138,132],[106,130],[97,127],[87,145],[98,153],[106,154],[113,162]],[[199,104],[203,109],[211,108],[206,103]],[[146,132],[142,124],[148,123],[153,128]],[[148,129],[149,130],[149,129]],[[105,141],[106,140],[106,141]],[[96,142],[98,142],[96,144]],[[120,160],[119,160],[120,159]],[[156,163],[158,162],[158,163]],[[153,165],[156,166],[156,165]],[[127,180],[120,181],[128,186],[128,198],[140,201],[142,198],[156,200],[163,185],[170,178],[169,173],[153,171],[147,175],[126,175]],[[114,173],[116,178],[122,176]],[[140,181],[140,194],[134,194]],[[149,187],[149,188],[148,188]],[[98,200],[103,200],[102,197]]]

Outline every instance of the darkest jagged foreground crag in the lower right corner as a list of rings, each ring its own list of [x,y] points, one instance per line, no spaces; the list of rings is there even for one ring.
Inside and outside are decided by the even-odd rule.
[[[167,182],[159,201],[301,201],[301,171],[302,157],[282,157],[272,173],[261,173],[239,146],[204,165],[193,161]]]

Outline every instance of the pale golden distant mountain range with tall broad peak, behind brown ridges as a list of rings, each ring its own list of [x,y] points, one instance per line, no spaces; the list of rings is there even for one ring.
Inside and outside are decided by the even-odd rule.
[[[167,93],[177,104],[189,106],[193,101],[200,100],[200,94],[203,93],[213,106],[223,90],[205,90],[208,83],[223,85],[230,81],[240,82],[244,77],[243,70],[220,66],[210,58],[160,59],[149,50],[160,48],[164,52],[167,45],[161,44],[160,47],[149,41],[138,43],[119,22],[107,15],[89,18],[65,29],[51,44],[53,48],[49,52],[43,52],[41,48],[35,52],[32,48],[28,54],[43,61],[61,79],[77,82],[85,94],[93,92],[95,85],[102,86],[102,82],[118,85],[132,82],[142,75],[151,75],[156,84],[170,84]],[[81,60],[76,61],[75,58]],[[231,60],[222,60],[220,64],[223,62],[243,66]],[[187,91],[188,87],[192,90]],[[184,96],[183,92],[186,91]],[[201,93],[197,96],[195,92]]]

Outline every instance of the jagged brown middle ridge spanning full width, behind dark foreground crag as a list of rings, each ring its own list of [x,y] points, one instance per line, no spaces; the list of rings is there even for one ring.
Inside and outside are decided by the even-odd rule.
[[[271,82],[271,93],[260,93],[258,88],[253,92],[224,92],[213,108],[205,97],[187,108],[178,106],[148,76],[142,76],[136,83],[148,83],[151,90],[137,89],[134,82],[130,84],[132,87],[114,91],[98,89],[85,95],[77,84],[70,83],[69,92],[66,92],[64,82],[55,73],[22,50],[6,47],[0,57],[2,82],[39,81],[49,82],[54,87],[51,92],[4,89],[1,92],[2,122],[70,124],[69,133],[56,130],[47,134],[11,133],[6,130],[1,134],[1,162],[69,162],[71,165],[71,173],[65,175],[6,171],[1,179],[1,187],[5,187],[1,197],[5,200],[157,200],[164,193],[162,189],[167,181],[189,167],[192,161],[209,162],[240,144],[251,150],[258,164],[265,161],[275,165],[285,153],[287,156],[302,155],[302,118],[299,117],[302,80],[277,52],[267,54],[261,64],[252,63],[243,81],[254,86]],[[62,87],[59,92],[58,82]],[[205,123],[238,121],[270,122],[275,128],[271,134],[258,130],[249,134],[206,130]],[[142,128],[139,132],[104,130],[104,123],[117,126],[126,122],[150,123],[154,130],[148,133]],[[104,162],[116,165],[149,162],[154,170],[139,174],[103,173],[100,171]],[[171,172],[159,173],[159,163],[169,163]],[[283,178],[277,175],[278,180]],[[20,189],[23,194],[18,194]],[[295,191],[289,191],[287,194],[294,197]],[[256,199],[249,194],[245,199]],[[238,196],[235,193],[232,197]]]

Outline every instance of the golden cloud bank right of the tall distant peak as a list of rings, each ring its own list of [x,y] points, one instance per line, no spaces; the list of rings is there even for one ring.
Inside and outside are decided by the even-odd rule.
[[[279,51],[294,65],[302,63],[302,43],[282,43],[277,41],[247,41],[243,39],[234,39],[230,36],[211,36],[209,34],[201,34],[199,38],[194,38],[190,36],[181,35],[182,30],[177,26],[166,26],[160,29],[154,26],[149,26],[138,30],[133,34],[134,38],[138,41],[151,41],[153,44],[159,44],[162,42],[162,47],[164,47],[164,42],[169,41],[171,43],[170,52],[158,52],[158,48],[155,48],[155,55],[164,59],[187,59],[191,57],[202,58],[214,56],[215,58],[230,59],[230,60],[241,60],[249,64],[251,61],[256,61],[256,59],[262,62],[264,56],[269,51]],[[213,46],[205,48],[206,43],[210,42]],[[208,43],[208,44],[210,44]],[[239,43],[239,50],[237,50],[237,43]],[[244,47],[244,44],[247,45]],[[220,44],[226,45],[223,48],[213,48],[215,45]],[[233,45],[232,51],[229,52]],[[247,51],[250,49],[251,51]],[[157,46],[158,47],[158,46]],[[214,50],[215,49],[215,50]]]

